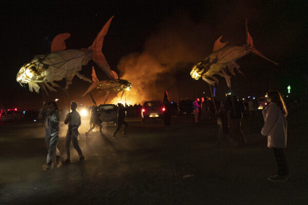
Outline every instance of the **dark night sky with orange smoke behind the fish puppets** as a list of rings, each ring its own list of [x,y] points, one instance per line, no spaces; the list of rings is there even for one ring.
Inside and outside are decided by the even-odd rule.
[[[246,18],[256,49],[279,65],[255,54],[244,56],[237,61],[244,76],[231,78],[232,91],[259,97],[268,89],[286,93],[291,85],[293,95],[300,96],[308,81],[307,9],[306,1],[1,1],[0,103],[39,108],[43,94],[21,87],[18,70],[34,55],[50,53],[52,39],[60,33],[71,34],[68,49],[88,48],[111,16],[103,53],[111,69],[138,85],[147,98],[163,98],[164,90],[173,100],[210,95],[204,81],[190,77],[191,67],[213,51],[221,35],[231,46],[244,45]],[[92,66],[90,61],[81,73],[90,77]],[[106,79],[96,70],[99,79]],[[219,80],[221,96],[228,89]],[[75,76],[71,100],[89,103],[88,96],[80,97],[88,86]],[[65,96],[58,91],[44,98]]]

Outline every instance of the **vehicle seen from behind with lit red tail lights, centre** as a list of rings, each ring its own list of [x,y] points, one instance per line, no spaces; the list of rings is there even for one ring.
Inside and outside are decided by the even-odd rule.
[[[142,123],[148,119],[164,119],[165,106],[160,100],[145,101],[142,110],[141,117]]]

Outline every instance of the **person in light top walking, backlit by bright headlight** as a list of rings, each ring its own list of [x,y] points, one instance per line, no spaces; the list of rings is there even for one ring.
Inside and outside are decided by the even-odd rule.
[[[79,155],[79,161],[83,161],[85,157],[82,154],[82,151],[78,145],[78,128],[81,125],[81,117],[80,114],[76,111],[77,103],[75,101],[72,101],[71,103],[71,110],[72,112],[68,113],[66,115],[66,118],[64,120],[64,124],[68,124],[67,134],[65,138],[65,151],[67,158],[65,161],[63,161],[64,165],[68,165],[70,163],[70,142],[73,142],[73,146],[75,150],[78,152]]]

